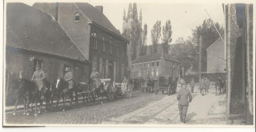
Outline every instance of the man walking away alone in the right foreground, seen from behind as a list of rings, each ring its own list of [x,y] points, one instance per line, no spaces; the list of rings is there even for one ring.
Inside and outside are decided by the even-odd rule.
[[[186,123],[186,114],[188,112],[188,103],[192,101],[192,95],[187,90],[187,84],[184,85],[177,95],[178,108],[180,111],[180,121]],[[189,102],[188,102],[189,101]]]

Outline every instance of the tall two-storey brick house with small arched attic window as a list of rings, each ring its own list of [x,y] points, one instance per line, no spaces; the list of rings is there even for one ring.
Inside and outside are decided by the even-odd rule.
[[[51,14],[96,68],[101,78],[120,82],[128,75],[128,40],[103,14],[102,6],[89,3],[35,3],[33,7]],[[91,71],[91,70],[90,70]]]

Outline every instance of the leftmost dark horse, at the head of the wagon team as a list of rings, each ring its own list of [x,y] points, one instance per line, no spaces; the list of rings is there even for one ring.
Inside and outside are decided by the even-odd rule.
[[[19,102],[19,97],[23,98],[24,101],[24,112],[23,115],[27,114],[29,115],[29,104],[30,102],[35,102],[35,116],[37,116],[37,102],[39,102],[39,90],[37,89],[37,86],[34,82],[31,82],[30,80],[27,80],[25,78],[21,78],[19,81],[19,88],[17,92],[17,99],[15,102],[15,108],[13,115],[16,114],[16,108]],[[32,105],[31,105],[32,109]]]

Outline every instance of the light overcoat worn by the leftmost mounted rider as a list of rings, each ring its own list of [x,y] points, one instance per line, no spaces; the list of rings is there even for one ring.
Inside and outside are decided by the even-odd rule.
[[[34,82],[37,84],[38,90],[45,93],[46,86],[44,83],[44,80],[46,79],[46,74],[42,69],[39,69],[34,72],[31,80],[34,80]]]

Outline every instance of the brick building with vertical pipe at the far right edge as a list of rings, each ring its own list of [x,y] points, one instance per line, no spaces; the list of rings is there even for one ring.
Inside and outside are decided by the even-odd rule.
[[[253,5],[225,5],[227,114],[253,124]],[[238,116],[237,116],[238,115]]]

